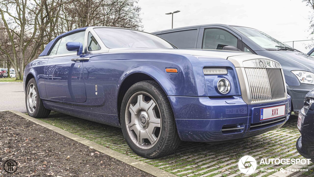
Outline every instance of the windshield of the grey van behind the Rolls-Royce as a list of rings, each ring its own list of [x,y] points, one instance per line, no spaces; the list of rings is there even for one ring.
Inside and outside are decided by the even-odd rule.
[[[259,46],[263,47],[264,49],[276,50],[276,49],[280,49],[280,46],[290,48],[288,45],[268,36],[262,31],[258,31],[256,29],[247,28],[247,27],[240,27],[240,26],[232,26],[232,27],[240,31],[242,34],[244,34],[248,38],[252,39],[252,41],[257,43]]]

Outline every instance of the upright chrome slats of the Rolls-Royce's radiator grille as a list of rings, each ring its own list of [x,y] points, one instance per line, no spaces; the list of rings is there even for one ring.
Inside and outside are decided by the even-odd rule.
[[[246,67],[251,102],[285,98],[285,83],[280,68]]]

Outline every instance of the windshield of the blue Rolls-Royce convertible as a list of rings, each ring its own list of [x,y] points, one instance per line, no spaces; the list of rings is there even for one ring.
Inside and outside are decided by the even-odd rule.
[[[107,48],[173,49],[164,39],[142,31],[119,28],[94,28]]]

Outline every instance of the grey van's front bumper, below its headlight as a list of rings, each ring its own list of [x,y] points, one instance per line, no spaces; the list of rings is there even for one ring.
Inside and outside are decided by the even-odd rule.
[[[305,95],[314,88],[314,85],[301,83],[299,86],[287,86],[291,96],[293,111],[300,111],[303,107]]]

